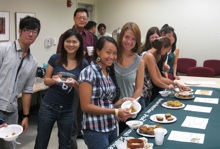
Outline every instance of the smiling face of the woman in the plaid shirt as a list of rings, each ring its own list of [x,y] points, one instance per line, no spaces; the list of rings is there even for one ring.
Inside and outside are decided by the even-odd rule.
[[[97,54],[100,57],[99,64],[103,68],[111,66],[117,59],[117,48],[113,43],[106,41],[103,48],[101,50],[97,50]]]

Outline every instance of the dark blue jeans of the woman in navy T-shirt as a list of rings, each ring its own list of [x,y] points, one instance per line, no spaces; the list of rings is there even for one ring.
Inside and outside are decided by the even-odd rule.
[[[38,114],[35,149],[47,149],[55,122],[58,126],[59,149],[71,148],[71,133],[74,123],[73,105],[65,107],[42,102]]]

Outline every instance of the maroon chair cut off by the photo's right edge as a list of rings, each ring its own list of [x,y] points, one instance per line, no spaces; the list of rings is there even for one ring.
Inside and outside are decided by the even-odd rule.
[[[220,60],[216,60],[216,59],[205,60],[203,62],[203,66],[214,69],[215,76],[220,75]]]

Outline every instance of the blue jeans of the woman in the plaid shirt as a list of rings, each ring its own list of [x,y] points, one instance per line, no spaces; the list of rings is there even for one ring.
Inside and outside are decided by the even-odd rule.
[[[117,129],[110,132],[83,130],[83,138],[88,149],[105,149],[117,137]]]

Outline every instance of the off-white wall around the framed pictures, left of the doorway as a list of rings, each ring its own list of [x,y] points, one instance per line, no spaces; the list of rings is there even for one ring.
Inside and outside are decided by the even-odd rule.
[[[31,51],[37,58],[39,66],[47,63],[49,57],[56,53],[56,46],[44,48],[44,39],[51,37],[58,41],[61,33],[73,26],[75,8],[76,2],[69,8],[66,6],[66,0],[0,0],[0,11],[10,12],[10,41],[15,40],[16,12],[35,12],[40,20],[40,34],[31,46]]]

